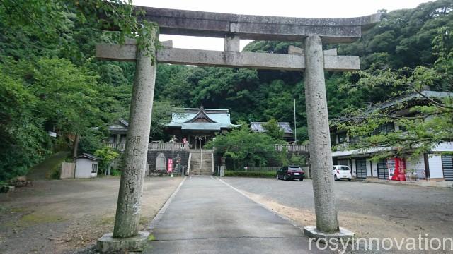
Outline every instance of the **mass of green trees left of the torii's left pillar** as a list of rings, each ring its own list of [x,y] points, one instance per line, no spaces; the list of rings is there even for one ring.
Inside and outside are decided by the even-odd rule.
[[[123,0],[2,1],[0,181],[25,174],[52,150],[47,131],[77,133],[93,152],[105,134],[93,127],[127,114],[134,65],[93,61],[94,46],[135,37],[149,47],[155,25],[142,15]]]

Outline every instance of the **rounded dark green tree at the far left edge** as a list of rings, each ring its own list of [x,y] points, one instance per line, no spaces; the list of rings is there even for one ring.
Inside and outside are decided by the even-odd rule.
[[[49,137],[33,111],[38,98],[0,68],[0,181],[23,175],[48,153]]]

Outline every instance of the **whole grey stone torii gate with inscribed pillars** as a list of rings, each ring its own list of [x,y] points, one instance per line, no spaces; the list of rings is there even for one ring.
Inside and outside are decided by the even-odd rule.
[[[322,43],[357,40],[362,30],[379,21],[379,14],[360,18],[286,18],[140,8],[146,11],[145,19],[159,25],[162,34],[221,37],[225,47],[224,52],[217,52],[176,49],[164,44],[163,49],[152,47],[150,52],[144,52],[137,49],[133,40],[124,45],[96,47],[98,59],[136,62],[115,228],[113,234],[98,240],[98,250],[140,250],[147,244],[149,233],[138,229],[156,77],[156,63],[151,62],[150,55],[156,56],[159,63],[304,71],[316,213],[316,226],[306,226],[304,234],[327,240],[353,236],[338,224],[324,71],[355,71],[360,69],[360,62],[358,56],[337,56],[336,50],[323,52]],[[297,41],[304,42],[304,47],[292,47],[290,54],[239,52],[240,39]]]

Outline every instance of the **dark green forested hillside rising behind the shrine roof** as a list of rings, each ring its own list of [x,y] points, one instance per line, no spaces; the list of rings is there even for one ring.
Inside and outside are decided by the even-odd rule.
[[[338,54],[360,56],[362,70],[370,73],[377,69],[432,66],[437,59],[432,41],[441,32],[440,28],[450,31],[453,28],[452,9],[452,1],[440,0],[413,9],[380,11],[382,21],[365,32],[362,39],[352,44],[324,47],[338,47]],[[256,41],[248,44],[244,51],[285,54],[289,45],[301,47],[300,42]],[[347,85],[357,78],[350,73],[326,73],[331,118],[338,117],[345,109],[382,102],[394,95],[394,91],[382,87],[350,89]],[[297,126],[302,126],[298,139],[306,139],[302,73],[161,65],[156,82],[157,99],[168,99],[185,107],[203,104],[231,108],[231,118],[235,121],[275,118],[294,123],[292,102],[296,99]]]

